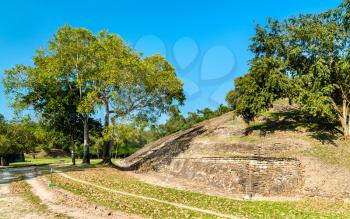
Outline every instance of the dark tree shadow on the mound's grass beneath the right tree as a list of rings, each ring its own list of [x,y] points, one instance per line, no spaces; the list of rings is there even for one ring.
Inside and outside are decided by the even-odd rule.
[[[274,112],[264,117],[259,124],[250,124],[245,130],[245,135],[253,131],[260,131],[261,136],[276,131],[306,131],[310,136],[322,144],[337,146],[336,140],[342,133],[336,123],[330,122],[325,117],[314,118],[302,114],[299,110],[290,112]]]

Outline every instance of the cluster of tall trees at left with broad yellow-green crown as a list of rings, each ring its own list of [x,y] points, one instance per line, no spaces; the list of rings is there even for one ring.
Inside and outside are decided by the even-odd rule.
[[[110,162],[111,116],[119,124],[154,122],[185,100],[183,83],[161,55],[142,57],[116,34],[68,25],[36,52],[33,65],[6,70],[3,84],[15,110],[34,109],[43,124],[69,136],[73,151],[83,136],[86,164],[98,110],[105,113],[103,159]]]

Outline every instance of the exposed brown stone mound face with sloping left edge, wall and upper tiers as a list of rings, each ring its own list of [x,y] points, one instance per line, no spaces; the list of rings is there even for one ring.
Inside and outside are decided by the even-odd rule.
[[[165,172],[236,194],[272,196],[300,190],[304,183],[300,161],[269,156],[288,151],[290,145],[210,140],[244,135],[245,127],[225,125],[232,117],[228,113],[150,143],[121,161],[120,168]],[[215,155],[228,152],[234,155]]]

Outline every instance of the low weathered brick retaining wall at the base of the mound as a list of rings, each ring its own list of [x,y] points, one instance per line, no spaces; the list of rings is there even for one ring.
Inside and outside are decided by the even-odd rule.
[[[175,158],[168,168],[175,176],[233,193],[288,194],[303,184],[303,168],[296,159]]]

